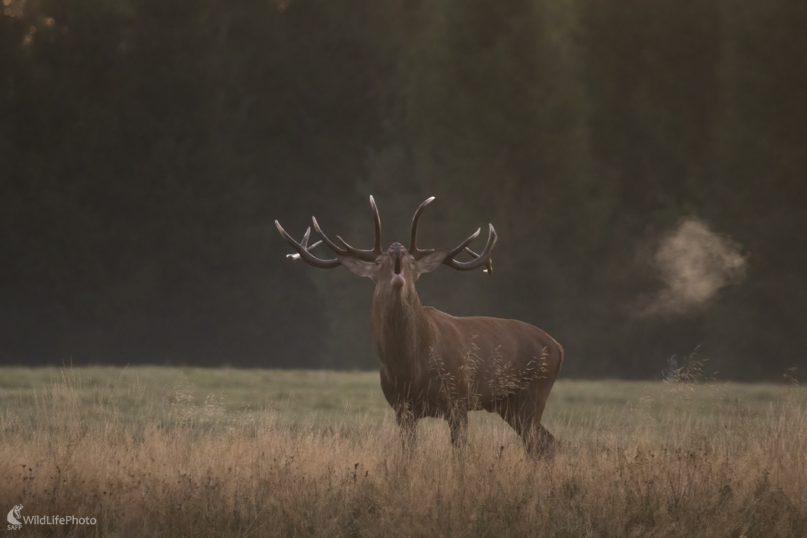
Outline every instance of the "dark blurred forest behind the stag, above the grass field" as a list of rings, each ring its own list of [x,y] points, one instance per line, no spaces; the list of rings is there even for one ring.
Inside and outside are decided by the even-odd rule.
[[[0,10],[4,364],[374,368],[372,282],[291,263],[273,223],[370,248],[374,194],[384,248],[430,195],[424,246],[493,223],[492,276],[442,268],[421,299],[537,324],[562,375],[658,377],[697,350],[718,378],[803,377],[804,2]],[[745,278],[643,315],[688,217]]]

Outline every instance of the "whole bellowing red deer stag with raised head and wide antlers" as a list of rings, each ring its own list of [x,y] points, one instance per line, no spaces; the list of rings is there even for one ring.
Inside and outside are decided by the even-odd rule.
[[[337,236],[329,240],[312,218],[322,238],[308,246],[311,227],[298,243],[277,220],[275,226],[297,251],[289,254],[320,269],[344,265],[359,277],[375,282],[372,328],[375,350],[381,363],[381,388],[395,410],[403,444],[415,440],[416,422],[421,417],[438,417],[449,422],[451,442],[465,444],[468,411],[499,413],[518,432],[529,453],[540,455],[554,437],[541,426],[546,398],[550,395],[563,361],[563,348],[546,332],[516,319],[485,317],[455,318],[420,304],[415,281],[422,273],[448,265],[460,271],[487,266],[496,232],[490,226],[481,254],[467,248],[479,230],[452,249],[420,249],[416,244],[417,220],[429,198],[412,218],[412,243],[407,250],[393,243],[381,249],[381,219],[373,197],[375,244],[360,250]],[[322,260],[310,251],[324,242],[337,256]],[[457,261],[468,252],[474,259]]]

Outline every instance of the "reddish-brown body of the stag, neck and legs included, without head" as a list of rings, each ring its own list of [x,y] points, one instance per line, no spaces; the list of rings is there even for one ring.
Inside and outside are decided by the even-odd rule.
[[[395,409],[404,442],[417,419],[447,419],[451,439],[466,439],[468,411],[501,415],[530,452],[548,448],[541,427],[546,398],[560,372],[563,348],[546,332],[516,319],[454,317],[423,307],[414,282],[377,283],[372,326],[381,387]]]

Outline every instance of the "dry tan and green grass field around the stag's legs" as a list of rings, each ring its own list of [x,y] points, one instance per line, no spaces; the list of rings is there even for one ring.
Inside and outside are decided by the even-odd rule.
[[[497,416],[421,421],[378,373],[0,368],[8,536],[807,536],[807,390],[560,381],[533,460]],[[6,508],[7,507],[7,508]]]

